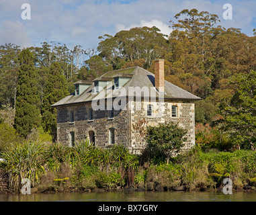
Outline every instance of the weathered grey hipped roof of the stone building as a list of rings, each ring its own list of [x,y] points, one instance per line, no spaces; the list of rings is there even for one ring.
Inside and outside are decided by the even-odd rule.
[[[127,74],[130,74],[130,75],[127,75]],[[157,90],[154,91],[155,75],[153,73],[146,71],[145,69],[142,69],[141,67],[130,67],[127,69],[109,71],[108,73],[101,75],[101,77],[95,80],[110,80],[113,77],[120,77],[120,76],[131,77],[131,79],[121,89],[110,90],[110,89],[114,89],[114,83],[112,81],[108,83],[108,85],[104,88],[104,90],[99,91],[99,93],[93,93],[94,85],[92,83],[91,86],[88,87],[85,91],[83,91],[83,93],[81,93],[80,95],[75,95],[75,93],[72,93],[71,95],[68,95],[67,97],[54,103],[52,107],[56,107],[60,105],[71,105],[74,103],[83,103],[83,102],[92,101],[93,99],[105,99],[107,95],[108,97],[118,97],[122,95],[120,94],[121,92],[124,92],[123,89],[126,90],[126,93],[128,95],[129,87],[139,87],[138,89],[142,89],[142,87],[147,87],[147,89],[149,89],[149,92],[151,92],[151,90],[153,89],[154,94],[152,95],[155,95],[155,97],[159,97],[158,91]],[[165,81],[164,97],[165,99],[181,99],[181,100],[182,99],[189,99],[189,100],[201,99],[200,97],[193,95],[192,93],[189,93],[188,91],[185,91],[184,89],[181,89],[180,87],[177,87],[176,85],[173,85],[168,81]]]

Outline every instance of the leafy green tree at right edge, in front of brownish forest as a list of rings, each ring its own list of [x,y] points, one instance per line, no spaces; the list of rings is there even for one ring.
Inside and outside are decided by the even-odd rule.
[[[220,104],[224,125],[234,142],[255,149],[256,142],[256,71],[232,77],[236,91],[228,102]],[[245,146],[248,148],[248,146]]]

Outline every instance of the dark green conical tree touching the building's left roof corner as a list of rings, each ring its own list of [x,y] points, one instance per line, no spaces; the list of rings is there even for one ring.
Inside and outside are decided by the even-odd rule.
[[[44,98],[42,104],[42,126],[44,132],[50,132],[52,142],[57,139],[57,113],[56,108],[50,105],[56,103],[69,94],[67,80],[58,62],[50,65],[50,72],[46,86],[44,87]]]

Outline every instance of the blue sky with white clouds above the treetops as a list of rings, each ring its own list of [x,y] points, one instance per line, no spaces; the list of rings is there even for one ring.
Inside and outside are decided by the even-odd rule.
[[[30,9],[22,8],[24,3]],[[223,9],[225,3],[232,9]],[[241,28],[248,36],[256,28],[255,0],[0,0],[0,45],[26,48],[52,41],[70,49],[95,49],[99,36],[142,26],[156,26],[169,35],[174,15],[193,8],[218,15],[224,28]]]

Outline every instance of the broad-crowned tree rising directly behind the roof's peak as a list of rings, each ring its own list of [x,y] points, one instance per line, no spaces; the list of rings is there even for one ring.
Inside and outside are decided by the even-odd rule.
[[[114,69],[120,69],[120,59],[133,62],[142,58],[147,69],[155,58],[163,57],[168,47],[168,40],[156,27],[132,28],[120,31],[115,36],[105,34],[99,39],[103,39],[97,47],[99,56],[112,64]]]

